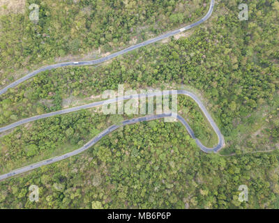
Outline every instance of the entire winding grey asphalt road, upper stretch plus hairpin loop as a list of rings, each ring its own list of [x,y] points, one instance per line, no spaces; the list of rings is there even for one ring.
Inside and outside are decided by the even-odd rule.
[[[61,68],[63,66],[86,66],[86,65],[95,65],[95,64],[98,64],[98,63],[103,63],[105,61],[108,61],[108,60],[116,57],[116,56],[119,56],[119,55],[122,55],[122,54],[126,54],[127,52],[133,51],[134,49],[137,49],[137,48],[140,48],[140,47],[144,47],[144,46],[149,45],[151,43],[156,43],[156,42],[158,42],[160,40],[163,40],[164,38],[168,38],[170,36],[174,36],[177,33],[181,33],[183,31],[191,29],[191,28],[193,28],[195,26],[198,26],[202,22],[206,21],[211,16],[211,13],[213,11],[213,6],[214,6],[214,0],[211,0],[210,6],[209,6],[209,11],[206,13],[206,15],[204,17],[202,17],[201,20],[199,20],[199,21],[197,21],[197,22],[195,22],[193,24],[185,26],[185,27],[183,27],[181,29],[176,29],[176,30],[171,31],[169,33],[165,33],[165,34],[163,34],[161,36],[158,36],[156,38],[152,38],[150,40],[146,40],[146,41],[144,41],[142,43],[139,43],[137,45],[133,45],[133,46],[128,47],[126,49],[123,49],[123,50],[121,50],[119,52],[115,52],[114,54],[110,54],[109,56],[105,56],[103,58],[96,59],[96,60],[93,60],[93,61],[56,63],[54,65],[45,66],[43,68],[35,70],[35,71],[29,73],[28,75],[26,75],[26,76],[24,76],[24,77],[22,77],[20,79],[17,79],[17,81],[13,82],[12,84],[9,84],[5,88],[1,89],[0,90],[0,95],[5,93],[6,91],[8,91],[8,89],[17,86],[18,84],[21,84],[22,82],[26,81],[27,79],[29,79],[31,77],[34,77],[39,72],[43,72],[45,70],[52,70],[54,68]],[[105,137],[105,135],[110,134],[111,132],[113,132],[114,130],[116,130],[117,128],[119,128],[119,127],[121,127],[123,125],[130,125],[130,124],[134,124],[134,123],[137,123],[137,122],[140,122],[140,121],[151,121],[151,120],[154,120],[154,119],[165,118],[165,117],[169,117],[169,116],[172,116],[173,118],[176,118],[178,121],[180,121],[184,125],[184,127],[186,128],[186,130],[190,134],[190,137],[195,139],[197,146],[199,146],[199,148],[202,151],[204,151],[205,153],[211,153],[211,152],[217,153],[221,148],[223,148],[223,146],[225,145],[224,137],[223,137],[222,133],[220,132],[220,130],[219,130],[218,126],[216,125],[216,123],[213,121],[213,118],[211,118],[209,112],[207,112],[206,108],[204,107],[202,102],[197,98],[197,96],[195,94],[193,94],[193,93],[191,93],[189,91],[184,91],[184,90],[163,91],[163,93],[162,92],[160,92],[160,93],[155,92],[155,93],[148,93],[148,94],[126,95],[126,96],[119,97],[119,98],[112,98],[112,99],[103,100],[103,101],[100,101],[100,102],[93,102],[93,103],[90,103],[88,105],[82,105],[82,106],[73,107],[73,108],[69,108],[69,109],[63,109],[63,110],[56,111],[56,112],[51,112],[51,113],[47,113],[47,114],[33,116],[31,118],[26,118],[26,119],[23,119],[21,121],[17,121],[15,123],[7,125],[7,126],[5,126],[3,128],[0,128],[0,132],[4,132],[6,130],[10,130],[10,129],[17,127],[18,125],[22,125],[24,123],[29,123],[31,121],[36,121],[36,120],[41,119],[41,118],[47,118],[47,117],[55,116],[55,115],[58,115],[58,114],[66,114],[66,113],[69,113],[69,112],[76,112],[76,111],[78,111],[80,109],[87,109],[87,108],[96,107],[96,106],[100,106],[100,105],[107,105],[107,104],[110,104],[110,103],[117,102],[119,100],[128,100],[130,98],[141,98],[141,97],[149,98],[149,97],[154,97],[156,95],[162,95],[162,94],[163,95],[183,94],[183,95],[188,95],[190,98],[193,98],[193,100],[195,100],[195,102],[197,102],[197,105],[199,105],[199,108],[204,113],[204,116],[206,116],[206,118],[209,121],[209,123],[211,124],[213,130],[216,132],[216,134],[218,136],[218,144],[216,146],[214,146],[213,148],[207,148],[206,146],[204,146],[199,141],[199,139],[197,139],[195,137],[195,134],[194,134],[193,130],[190,128],[190,126],[184,120],[184,118],[179,116],[179,114],[175,114],[175,113],[156,114],[156,115],[151,115],[151,116],[145,116],[145,117],[133,118],[133,119],[130,119],[130,120],[126,120],[126,121],[123,121],[121,123],[121,125],[112,125],[109,128],[107,128],[106,130],[104,130],[103,132],[101,132],[100,134],[98,134],[97,137],[94,137],[88,143],[86,143],[84,146],[82,146],[81,148],[78,148],[75,151],[72,151],[70,153],[66,153],[66,154],[61,155],[61,156],[52,157],[49,160],[43,160],[41,162],[37,162],[36,164],[31,164],[31,165],[28,165],[26,167],[22,167],[20,169],[15,169],[15,170],[11,171],[8,174],[1,175],[0,176],[0,180],[9,178],[10,176],[15,176],[17,174],[22,174],[24,172],[31,171],[32,169],[36,169],[38,167],[42,167],[42,166],[45,166],[47,164],[58,162],[60,160],[64,160],[64,159],[66,159],[68,157],[71,157],[73,155],[77,155],[79,153],[82,153],[86,149],[88,149],[91,146],[93,146],[94,144],[96,144],[96,142],[98,142],[100,139]]]

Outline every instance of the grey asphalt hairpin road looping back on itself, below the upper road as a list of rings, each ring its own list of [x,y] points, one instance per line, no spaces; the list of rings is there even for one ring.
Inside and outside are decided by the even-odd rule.
[[[133,119],[130,119],[130,120],[126,120],[126,121],[123,121],[121,125],[112,125],[109,128],[107,128],[106,130],[104,130],[103,132],[101,132],[100,134],[98,134],[98,136],[91,139],[84,146],[82,146],[81,148],[78,148],[75,151],[72,151],[70,153],[66,153],[66,154],[61,155],[61,156],[52,157],[49,160],[43,160],[41,162],[37,162],[36,164],[31,164],[31,165],[28,165],[26,167],[22,167],[20,169],[13,170],[8,174],[1,175],[0,180],[3,180],[3,179],[8,178],[10,176],[15,176],[17,174],[22,174],[22,173],[30,171],[32,169],[36,169],[38,167],[42,167],[42,166],[45,166],[47,164],[51,164],[53,162],[58,162],[60,160],[64,160],[68,157],[71,157],[73,155],[77,155],[79,153],[82,153],[86,149],[88,149],[91,146],[93,146],[94,144],[96,144],[97,141],[99,141],[100,139],[105,137],[105,135],[110,134],[111,132],[113,132],[114,130],[116,130],[117,128],[119,128],[123,125],[130,125],[130,124],[134,124],[134,123],[137,123],[137,122],[140,122],[140,121],[151,121],[151,120],[154,120],[154,119],[165,118],[165,117],[168,117],[168,116],[172,116],[173,118],[176,118],[178,121],[180,121],[184,125],[184,127],[186,128],[186,130],[190,134],[190,137],[195,139],[197,146],[199,146],[199,148],[202,151],[204,151],[205,153],[211,153],[211,152],[217,153],[218,151],[220,151],[220,149],[223,148],[223,146],[225,145],[225,140],[224,140],[224,137],[223,137],[222,133],[220,132],[218,126],[213,121],[213,118],[210,116],[209,112],[207,112],[206,108],[204,107],[202,102],[199,100],[199,98],[197,98],[197,96],[194,93],[191,93],[189,91],[184,91],[184,90],[153,92],[153,93],[148,93],[148,94],[126,95],[126,96],[119,97],[119,98],[112,98],[112,99],[103,100],[103,101],[100,101],[100,102],[93,102],[93,103],[90,103],[88,105],[82,105],[82,106],[73,107],[73,108],[69,108],[69,109],[63,109],[63,110],[60,110],[60,111],[57,111],[57,112],[51,112],[51,113],[42,114],[42,115],[39,115],[39,116],[33,116],[31,118],[26,118],[22,121],[17,121],[16,123],[13,123],[11,125],[7,125],[6,127],[0,128],[0,132],[10,130],[12,128],[15,128],[15,126],[22,125],[23,123],[29,123],[29,122],[34,121],[34,120],[38,120],[38,119],[42,119],[42,118],[46,118],[46,117],[50,117],[50,116],[55,116],[57,114],[66,114],[66,113],[69,113],[69,112],[78,111],[80,109],[86,109],[86,108],[96,107],[96,106],[100,106],[100,105],[107,105],[107,104],[110,104],[110,103],[114,103],[114,102],[121,101],[121,100],[128,100],[128,99],[131,99],[131,98],[142,98],[142,97],[150,98],[150,97],[155,97],[155,96],[158,96],[158,95],[173,95],[173,94],[187,95],[190,98],[193,98],[193,100],[195,100],[195,102],[197,102],[197,105],[199,105],[199,108],[202,110],[202,112],[204,113],[204,116],[207,118],[207,120],[211,124],[213,130],[216,132],[216,134],[218,136],[218,144],[216,146],[214,146],[213,148],[208,148],[208,147],[204,146],[201,143],[201,141],[199,141],[199,139],[197,139],[195,137],[195,133],[190,128],[190,125],[188,125],[188,123],[185,121],[185,119],[183,117],[179,116],[179,114],[175,114],[175,113],[156,114],[156,115],[151,115],[151,116],[145,116],[145,117],[133,118]]]

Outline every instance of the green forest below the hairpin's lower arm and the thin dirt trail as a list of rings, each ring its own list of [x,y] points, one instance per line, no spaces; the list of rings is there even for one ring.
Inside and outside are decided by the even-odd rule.
[[[265,208],[278,203],[278,151],[220,157],[181,123],[126,125],[80,155],[0,182],[0,208]],[[39,202],[29,201],[38,185]],[[248,185],[249,202],[238,201]]]

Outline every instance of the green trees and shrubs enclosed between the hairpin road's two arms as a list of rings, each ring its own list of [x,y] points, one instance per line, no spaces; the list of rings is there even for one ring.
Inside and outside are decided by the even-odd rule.
[[[156,109],[156,100],[154,107]],[[218,143],[216,134],[193,100],[179,95],[178,109],[183,111],[181,115],[187,118],[196,137],[201,139],[205,146]],[[100,107],[97,107],[41,119],[27,123],[25,127],[19,126],[10,134],[1,137],[0,174],[73,151],[110,125],[119,125],[124,119],[133,117],[136,116],[104,115]]]

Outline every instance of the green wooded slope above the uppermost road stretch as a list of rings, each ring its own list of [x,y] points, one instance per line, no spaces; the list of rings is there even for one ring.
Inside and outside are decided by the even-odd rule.
[[[27,0],[24,14],[0,16],[1,84],[19,70],[21,75],[77,54],[93,59],[193,22],[206,12],[204,2]],[[31,3],[39,6],[38,24],[29,20]]]

